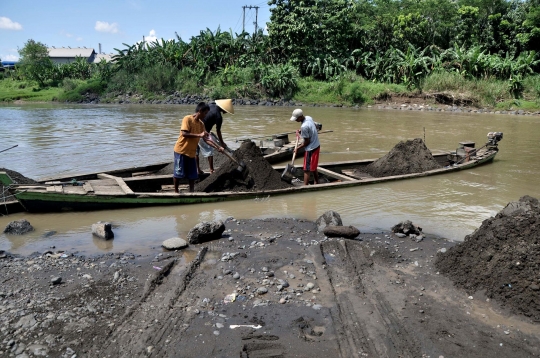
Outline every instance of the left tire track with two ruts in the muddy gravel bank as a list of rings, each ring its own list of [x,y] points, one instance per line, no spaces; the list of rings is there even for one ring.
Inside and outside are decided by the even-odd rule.
[[[184,323],[193,318],[174,310],[176,302],[193,280],[208,251],[203,247],[187,266],[171,260],[145,285],[140,301],[129,307],[122,324],[111,328],[106,343],[94,344],[89,356],[165,357],[174,352],[161,350],[164,343],[179,339]]]

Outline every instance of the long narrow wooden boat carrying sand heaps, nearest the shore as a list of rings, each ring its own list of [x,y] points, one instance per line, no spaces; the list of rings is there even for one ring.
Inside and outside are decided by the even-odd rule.
[[[303,186],[296,183],[290,188],[268,191],[175,194],[171,185],[171,175],[153,175],[169,163],[68,178],[49,178],[37,185],[14,185],[6,173],[0,172],[0,182],[4,186],[10,186],[19,202],[30,212],[88,211],[209,203],[347,188],[471,169],[493,161],[498,152],[497,142],[501,139],[502,133],[498,140],[490,139],[479,149],[467,146],[470,142],[462,142],[455,152],[434,155],[434,158],[442,165],[441,168],[422,173],[372,178],[358,175],[358,173],[361,173],[362,168],[374,160],[342,161],[320,165],[319,176],[324,184]],[[274,167],[279,173],[283,168],[283,166]]]

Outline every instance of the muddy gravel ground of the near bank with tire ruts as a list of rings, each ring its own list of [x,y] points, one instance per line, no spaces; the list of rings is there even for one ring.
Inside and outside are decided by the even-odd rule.
[[[294,219],[226,226],[221,240],[185,252],[4,254],[0,355],[540,355],[540,325],[481,294],[469,299],[437,273],[437,250],[452,243],[325,239]],[[65,283],[52,285],[54,276]]]

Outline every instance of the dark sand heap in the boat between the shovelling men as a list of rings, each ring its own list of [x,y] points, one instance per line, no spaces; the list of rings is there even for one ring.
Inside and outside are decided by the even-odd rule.
[[[236,160],[246,164],[246,175],[236,171],[238,165],[231,160],[223,163],[219,169],[208,178],[195,185],[195,191],[260,191],[291,187],[281,180],[281,175],[275,171],[263,157],[259,147],[253,142],[244,142],[234,152]]]

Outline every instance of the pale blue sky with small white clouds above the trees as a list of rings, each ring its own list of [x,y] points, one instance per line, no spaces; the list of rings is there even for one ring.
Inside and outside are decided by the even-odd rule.
[[[143,40],[189,41],[201,30],[242,32],[243,6],[259,6],[257,23],[270,21],[267,0],[0,0],[0,59],[17,61],[32,39],[47,47],[115,48]],[[245,28],[255,29],[255,9],[245,10]]]

